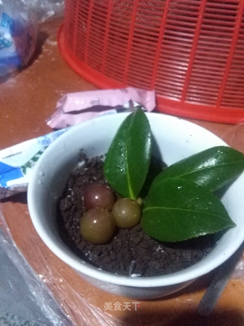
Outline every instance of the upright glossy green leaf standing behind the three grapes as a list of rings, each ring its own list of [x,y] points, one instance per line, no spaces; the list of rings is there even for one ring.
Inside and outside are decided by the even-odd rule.
[[[151,130],[142,109],[129,114],[119,127],[104,162],[104,175],[122,196],[136,199],[151,158]]]

